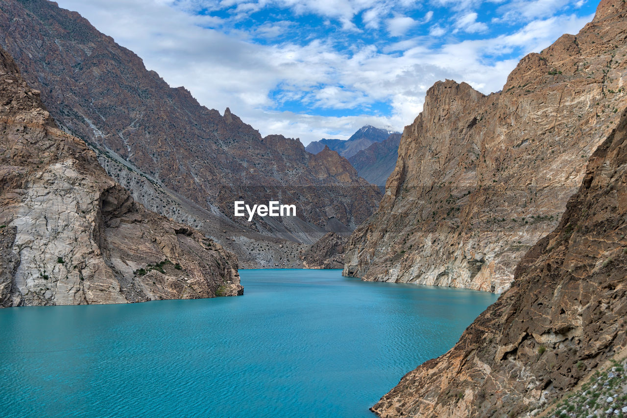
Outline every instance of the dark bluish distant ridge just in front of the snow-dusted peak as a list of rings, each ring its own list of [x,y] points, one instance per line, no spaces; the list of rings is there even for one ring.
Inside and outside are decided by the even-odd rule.
[[[375,142],[349,157],[350,165],[355,167],[360,177],[384,188],[387,177],[392,174],[394,167],[396,167],[400,143],[401,134],[391,133],[382,142]]]

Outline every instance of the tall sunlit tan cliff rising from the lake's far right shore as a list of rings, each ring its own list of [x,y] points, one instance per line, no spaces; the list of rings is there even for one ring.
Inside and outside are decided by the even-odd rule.
[[[500,93],[431,87],[379,209],[349,239],[344,274],[507,290],[627,105],[626,9],[604,0],[577,36],[525,56]]]

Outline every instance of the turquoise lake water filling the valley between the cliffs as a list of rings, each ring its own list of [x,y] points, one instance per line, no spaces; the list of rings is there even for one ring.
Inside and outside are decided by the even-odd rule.
[[[6,417],[374,417],[497,295],[240,270],[245,295],[0,310]]]

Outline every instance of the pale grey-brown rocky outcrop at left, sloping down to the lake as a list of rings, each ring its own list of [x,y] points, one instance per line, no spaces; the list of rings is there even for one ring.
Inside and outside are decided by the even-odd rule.
[[[0,172],[0,306],[241,295],[235,256],[137,204],[1,49]]]

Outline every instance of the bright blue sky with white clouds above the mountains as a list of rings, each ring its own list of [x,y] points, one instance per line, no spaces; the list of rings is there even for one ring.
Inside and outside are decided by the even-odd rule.
[[[303,144],[402,130],[435,81],[502,88],[593,0],[57,0],[171,86]]]

